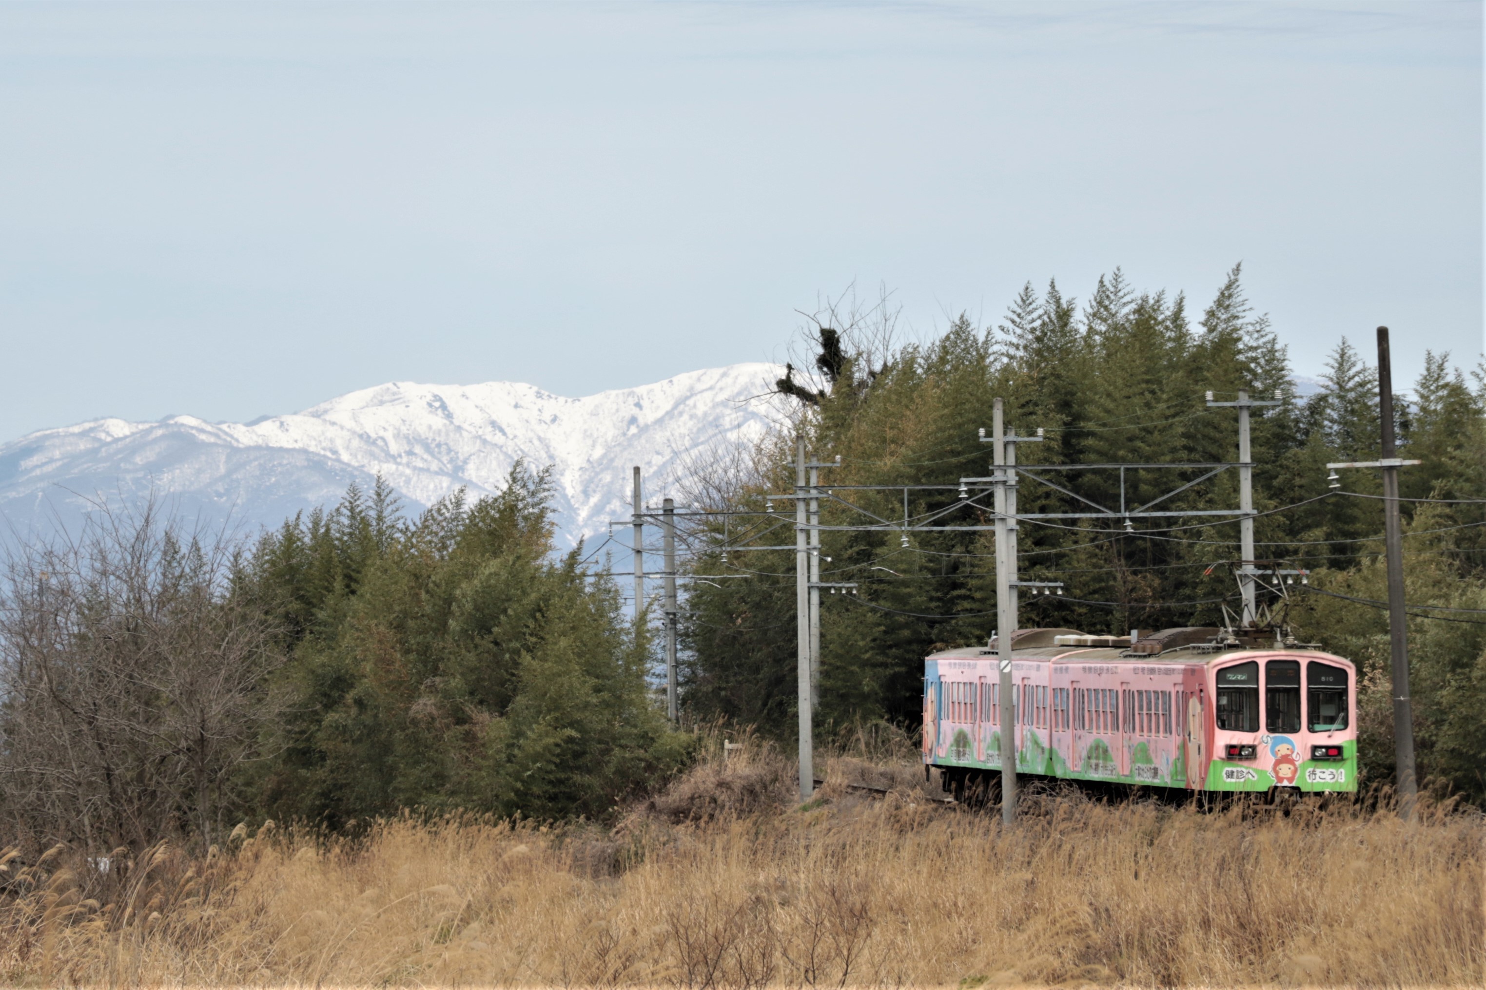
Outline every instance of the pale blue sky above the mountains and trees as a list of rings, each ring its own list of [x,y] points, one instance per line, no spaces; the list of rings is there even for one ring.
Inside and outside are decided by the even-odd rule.
[[[1482,349],[1482,4],[0,3],[0,439],[780,358],[1235,261]]]

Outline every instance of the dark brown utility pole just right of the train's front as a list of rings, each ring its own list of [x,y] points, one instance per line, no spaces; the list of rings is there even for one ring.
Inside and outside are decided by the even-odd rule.
[[[1392,359],[1388,328],[1378,328],[1378,398],[1383,441],[1383,542],[1388,551],[1388,638],[1392,646],[1394,760],[1398,813],[1413,819],[1418,779],[1413,766],[1413,708],[1409,702],[1409,625],[1403,610],[1403,522],[1398,519],[1398,451],[1392,423]]]

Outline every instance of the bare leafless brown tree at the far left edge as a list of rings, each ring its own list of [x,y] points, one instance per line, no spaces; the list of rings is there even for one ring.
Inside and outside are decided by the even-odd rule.
[[[235,543],[149,503],[0,563],[0,821],[92,853],[217,840],[279,638]]]

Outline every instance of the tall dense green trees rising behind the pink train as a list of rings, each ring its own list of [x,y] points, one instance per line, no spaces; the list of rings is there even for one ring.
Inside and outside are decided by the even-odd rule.
[[[1360,666],[1360,745],[1369,779],[1392,772],[1388,698],[1388,619],[1382,555],[1382,481],[1378,471],[1346,471],[1330,488],[1327,463],[1378,460],[1378,371],[1360,347],[1339,340],[1320,392],[1302,398],[1287,352],[1269,321],[1245,300],[1235,267],[1199,313],[1181,295],[1137,291],[1119,270],[1098,281],[1085,303],[1055,282],[1022,288],[994,327],[957,319],[927,343],[884,346],[881,307],[825,312],[807,331],[813,362],[791,367],[779,390],[798,405],[798,429],[823,468],[823,525],[874,519],[981,524],[987,509],[964,506],[960,478],[990,473],[996,398],[1006,424],[1042,442],[1018,445],[1021,465],[1236,462],[1233,408],[1208,408],[1207,393],[1233,401],[1241,389],[1278,405],[1256,408],[1253,462],[1256,557],[1272,570],[1309,571],[1285,585],[1285,614],[1302,641]],[[804,364],[804,362],[802,362]],[[1395,390],[1403,387],[1395,383]],[[1431,353],[1424,374],[1394,402],[1400,456],[1424,462],[1401,471],[1410,663],[1421,779],[1486,796],[1486,378]],[[730,548],[789,545],[792,505],[768,494],[794,490],[794,436],[782,429],[747,465],[727,465],[694,500],[715,511],[752,512],[698,533],[698,573],[743,573],[750,580],[697,582],[682,619],[682,698],[694,717],[795,732],[795,570],[792,551]],[[1201,471],[1126,472],[1125,497],[1146,505]],[[1019,481],[1018,511],[1086,511],[1120,503],[1119,472],[1045,476],[1064,491]],[[851,485],[935,485],[903,491]],[[850,508],[846,503],[850,502]],[[981,499],[990,505],[990,499]],[[1158,508],[1238,505],[1238,478],[1224,471]],[[865,511],[865,512],[863,512]],[[788,517],[788,518],[786,518]],[[1159,525],[1158,525],[1159,524]],[[1131,629],[1224,625],[1238,607],[1238,524],[1211,517],[1094,519],[1042,524],[1018,533],[1019,577],[1061,582],[1064,594],[1021,595],[1021,626],[1062,626],[1125,635]],[[822,594],[817,730],[921,715],[923,658],[984,644],[996,628],[994,539],[960,531],[823,531],[823,582],[856,583],[856,594]],[[1346,595],[1345,598],[1333,595]],[[1276,597],[1269,597],[1275,601]],[[1355,601],[1364,600],[1364,601]],[[1372,604],[1369,604],[1372,603]],[[1431,609],[1425,609],[1430,606]],[[1440,607],[1440,609],[1435,609]],[[1441,609],[1456,609],[1446,612]],[[1473,612],[1474,610],[1474,612]],[[822,724],[823,723],[823,724]]]

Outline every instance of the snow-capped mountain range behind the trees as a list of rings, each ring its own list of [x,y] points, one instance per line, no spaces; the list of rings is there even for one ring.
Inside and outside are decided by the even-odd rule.
[[[658,499],[690,453],[762,433],[780,407],[759,396],[779,373],[740,364],[577,399],[519,381],[392,381],[253,423],[94,420],[0,447],[0,515],[24,533],[71,524],[100,494],[153,490],[186,517],[273,527],[377,473],[413,511],[461,485],[477,497],[525,459],[553,466],[560,539],[575,545],[629,518],[635,465]]]

